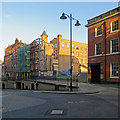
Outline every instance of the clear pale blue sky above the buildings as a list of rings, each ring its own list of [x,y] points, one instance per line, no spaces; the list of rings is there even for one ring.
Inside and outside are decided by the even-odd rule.
[[[118,2],[2,2],[0,6],[0,59],[4,60],[4,49],[14,44],[16,38],[30,44],[45,30],[48,42],[58,34],[69,39],[70,20],[60,19],[63,12],[72,14],[81,24],[76,27],[76,21],[72,22],[73,40],[88,43],[87,20],[118,7]]]

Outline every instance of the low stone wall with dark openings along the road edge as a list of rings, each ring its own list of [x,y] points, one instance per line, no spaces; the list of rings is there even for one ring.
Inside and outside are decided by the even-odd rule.
[[[56,85],[54,83],[45,83],[36,81],[2,81],[3,89],[22,89],[22,90],[41,90],[41,91],[68,91],[70,88],[66,85]],[[76,87],[73,90],[77,90]]]

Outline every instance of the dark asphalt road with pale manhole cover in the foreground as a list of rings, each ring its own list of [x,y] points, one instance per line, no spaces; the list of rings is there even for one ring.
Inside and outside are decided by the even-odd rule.
[[[118,88],[97,86],[95,94],[3,90],[2,118],[117,118]]]

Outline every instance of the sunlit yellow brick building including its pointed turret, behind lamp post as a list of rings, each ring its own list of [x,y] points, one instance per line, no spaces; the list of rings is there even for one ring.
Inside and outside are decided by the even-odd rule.
[[[81,67],[80,67],[81,64]],[[88,45],[72,41],[73,75],[87,72]],[[83,67],[85,66],[85,67]],[[81,68],[81,70],[80,70]],[[48,35],[43,31],[40,44],[40,71],[64,71],[70,69],[70,40],[58,35],[48,43]]]

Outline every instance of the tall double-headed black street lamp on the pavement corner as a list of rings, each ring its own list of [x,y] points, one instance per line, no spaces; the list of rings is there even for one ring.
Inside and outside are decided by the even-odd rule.
[[[65,20],[67,19],[67,17],[70,19],[70,91],[72,91],[72,20],[76,21],[75,26],[80,26],[81,24],[79,23],[79,21],[75,18],[72,17],[72,14],[67,15],[65,13],[62,13],[62,16],[60,17],[60,19]]]

